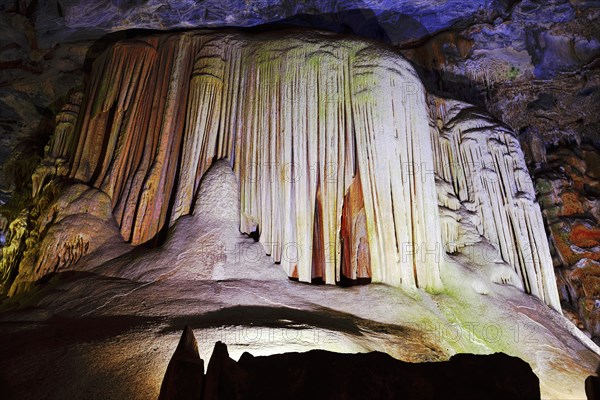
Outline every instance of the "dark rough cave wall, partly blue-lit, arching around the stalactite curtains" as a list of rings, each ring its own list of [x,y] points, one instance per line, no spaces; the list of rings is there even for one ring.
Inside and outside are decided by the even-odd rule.
[[[27,186],[43,156],[54,114],[69,102],[69,90],[81,89],[84,58],[92,45],[82,39],[129,28],[253,26],[284,20],[355,33],[397,45],[422,68],[421,74],[433,74],[434,88],[485,106],[520,132],[546,216],[561,300],[572,308],[580,327],[594,335],[600,332],[590,322],[598,315],[594,261],[600,245],[598,183],[590,161],[598,154],[600,132],[597,2],[498,1],[464,7],[425,1],[303,2],[298,7],[228,2],[206,3],[203,10],[187,2],[90,6],[43,0],[0,5],[0,202]],[[533,152],[530,143],[537,143]],[[545,157],[546,152],[542,159],[532,155]],[[547,195],[550,186],[555,189]],[[16,200],[27,203],[20,195]],[[556,216],[562,204],[568,205],[566,212]],[[0,228],[9,236],[8,223],[20,211],[16,208],[7,212],[8,220],[0,218]],[[579,278],[560,278],[572,274]]]

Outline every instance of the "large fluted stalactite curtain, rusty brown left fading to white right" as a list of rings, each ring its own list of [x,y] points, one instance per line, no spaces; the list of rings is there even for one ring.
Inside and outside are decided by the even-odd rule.
[[[316,33],[121,42],[96,61],[84,109],[71,175],[112,198],[126,240],[189,214],[226,158],[240,230],[258,229],[290,276],[339,281],[344,240],[352,278],[441,289],[424,89],[389,50]],[[359,192],[345,231],[359,237],[341,237]]]

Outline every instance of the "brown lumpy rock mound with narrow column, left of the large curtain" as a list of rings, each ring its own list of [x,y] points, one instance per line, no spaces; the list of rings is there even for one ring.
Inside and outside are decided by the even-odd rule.
[[[8,226],[0,282],[9,295],[26,291],[42,278],[72,269],[103,246],[122,243],[110,198],[87,185],[67,184],[67,157],[73,143],[82,95],[74,93],[56,117],[45,157],[35,168],[32,200]],[[116,257],[118,252],[114,252]]]

